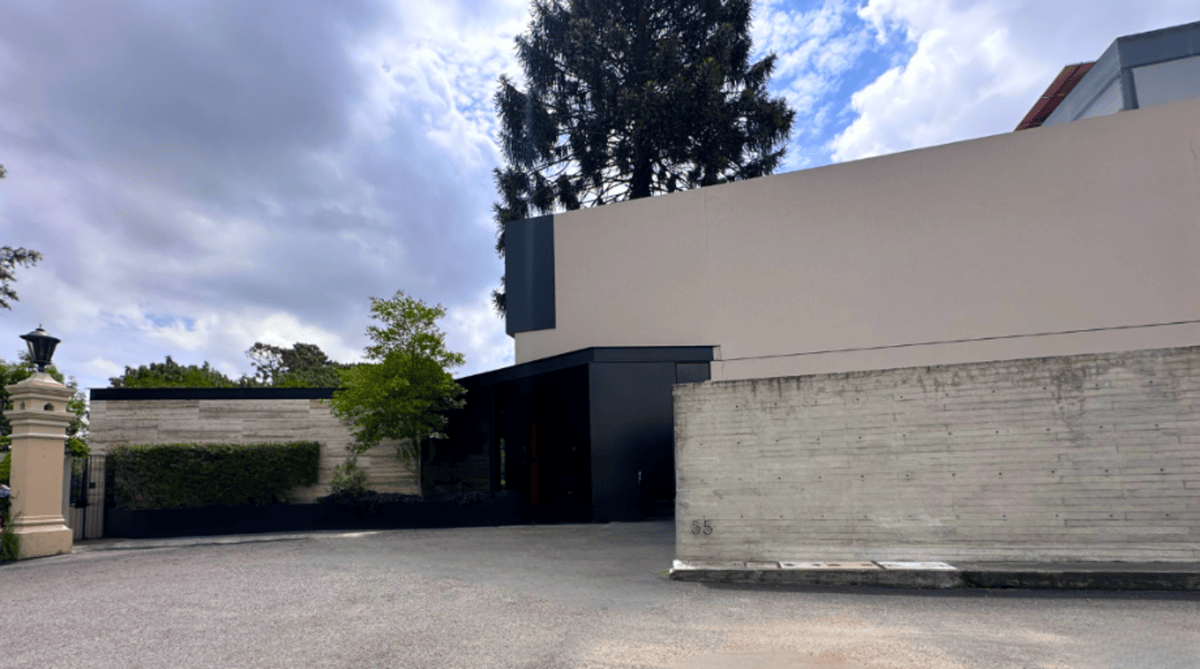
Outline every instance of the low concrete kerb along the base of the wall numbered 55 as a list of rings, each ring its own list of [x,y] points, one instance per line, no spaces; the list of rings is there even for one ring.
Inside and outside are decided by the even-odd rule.
[[[1196,562],[684,562],[672,580],[917,589],[1200,591]]]

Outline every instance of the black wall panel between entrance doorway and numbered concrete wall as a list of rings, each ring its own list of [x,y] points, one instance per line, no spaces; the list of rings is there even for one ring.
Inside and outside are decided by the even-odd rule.
[[[674,496],[673,362],[595,362],[592,507],[595,520],[632,520]]]

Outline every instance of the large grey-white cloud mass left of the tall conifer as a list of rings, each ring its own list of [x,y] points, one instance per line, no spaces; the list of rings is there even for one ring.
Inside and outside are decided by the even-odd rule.
[[[46,259],[18,272],[0,339],[44,323],[85,386],[167,355],[240,374],[256,340],[350,361],[367,297],[404,289],[460,314],[448,329],[468,344],[463,372],[503,363],[511,340],[480,302],[503,271],[491,94],[524,11],[7,8],[0,243]]]

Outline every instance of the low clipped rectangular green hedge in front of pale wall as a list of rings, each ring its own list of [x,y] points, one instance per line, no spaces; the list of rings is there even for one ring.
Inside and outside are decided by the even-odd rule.
[[[317,483],[320,445],[166,444],[118,446],[104,463],[121,508],[200,508],[287,501]]]

